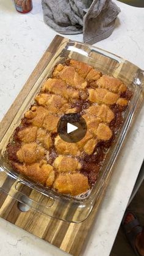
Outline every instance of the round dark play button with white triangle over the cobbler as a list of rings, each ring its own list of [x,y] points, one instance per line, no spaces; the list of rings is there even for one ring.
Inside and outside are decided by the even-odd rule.
[[[87,124],[80,114],[65,114],[59,120],[57,133],[63,141],[75,143],[87,133]]]

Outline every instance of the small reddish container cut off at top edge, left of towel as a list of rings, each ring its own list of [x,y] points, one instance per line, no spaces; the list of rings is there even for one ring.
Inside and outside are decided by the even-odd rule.
[[[27,13],[32,10],[32,0],[15,0],[16,10],[20,13]]]

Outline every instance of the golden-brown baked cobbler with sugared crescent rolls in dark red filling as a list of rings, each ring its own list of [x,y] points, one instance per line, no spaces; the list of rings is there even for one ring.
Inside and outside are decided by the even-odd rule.
[[[96,183],[131,97],[122,81],[84,62],[58,64],[7,146],[10,164],[59,193],[87,192]],[[68,113],[81,114],[87,123],[85,137],[76,143],[57,134],[60,117]]]

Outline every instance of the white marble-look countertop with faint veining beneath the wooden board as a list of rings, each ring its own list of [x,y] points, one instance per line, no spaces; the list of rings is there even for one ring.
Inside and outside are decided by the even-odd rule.
[[[9,109],[56,32],[43,23],[41,1],[27,15],[13,2],[0,0],[0,119]],[[115,1],[117,2],[117,1]],[[144,9],[117,2],[121,8],[113,34],[96,46],[118,54],[144,69]],[[68,35],[82,41],[82,35]],[[109,188],[96,216],[84,256],[108,256],[139,174],[144,152],[144,107],[121,152]],[[65,255],[54,246],[0,219],[0,255]]]

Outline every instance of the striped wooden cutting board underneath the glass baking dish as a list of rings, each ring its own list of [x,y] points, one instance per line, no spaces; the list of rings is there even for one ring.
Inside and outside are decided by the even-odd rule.
[[[16,112],[20,108],[21,102],[26,98],[27,93],[31,90],[32,86],[35,84],[46,65],[48,65],[49,60],[51,60],[54,53],[56,53],[57,48],[62,42],[68,41],[67,38],[56,35],[54,40],[52,40],[51,45],[49,45],[43,57],[38,62],[37,67],[35,67],[31,76],[27,80],[23,89],[19,93],[18,97],[10,107],[7,114],[5,114],[4,119],[0,125],[0,141],[3,134],[9,128],[10,123],[13,120]],[[8,186],[7,179],[5,180],[4,175],[1,173],[1,183],[3,186]],[[3,178],[3,180],[2,180]],[[88,218],[79,224],[68,223],[65,221],[59,221],[54,218],[50,218],[45,214],[38,213],[32,209],[27,212],[22,212],[18,208],[18,202],[12,197],[7,196],[0,190],[0,216],[1,218],[9,221],[23,230],[26,230],[39,238],[48,241],[54,246],[59,247],[65,252],[72,255],[79,255],[85,247],[85,241],[88,236],[88,232],[92,227],[93,221],[95,221],[96,213],[98,211],[101,199],[103,199],[104,192],[106,191],[107,183],[99,197],[96,205],[93,207],[92,212]],[[9,185],[10,186],[10,185]],[[27,188],[29,189],[29,188]]]

